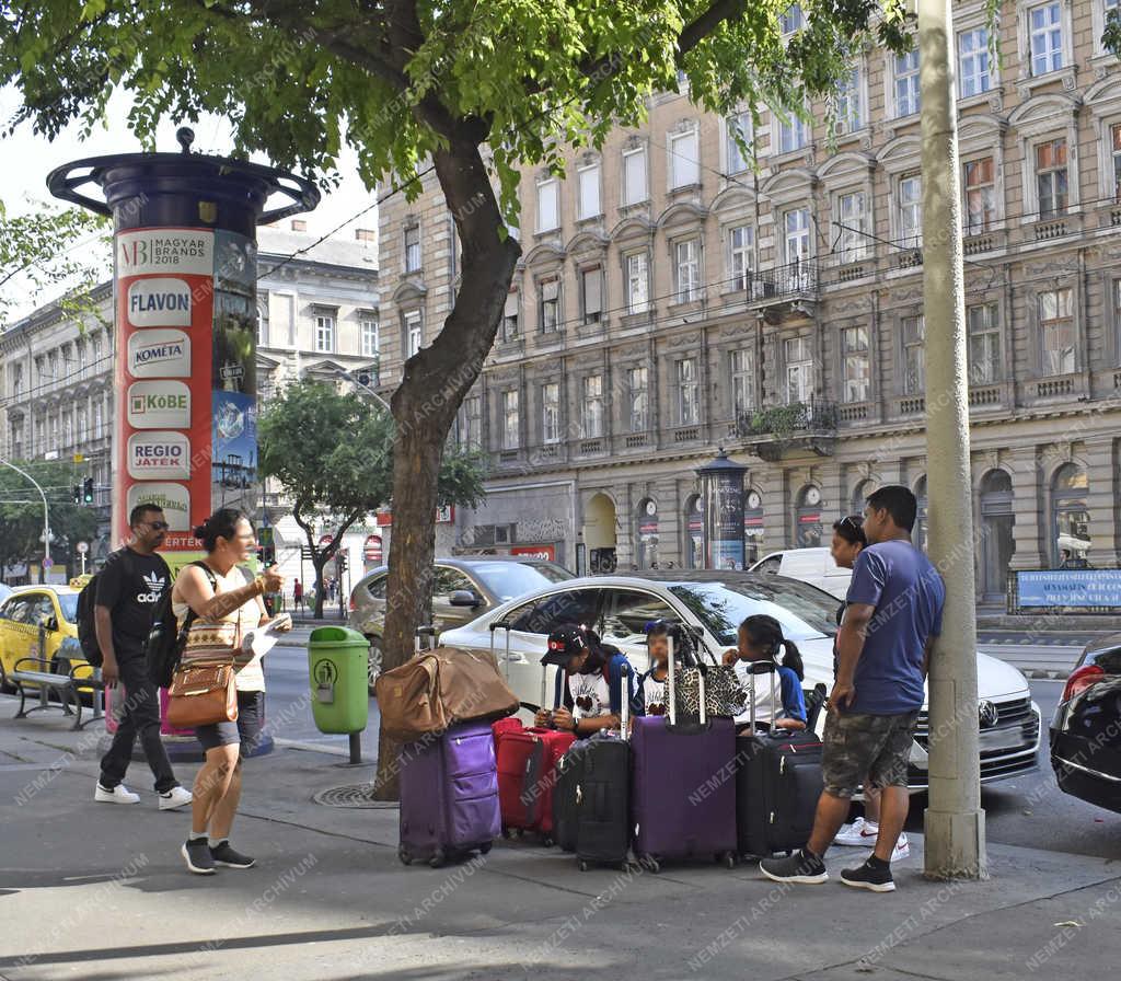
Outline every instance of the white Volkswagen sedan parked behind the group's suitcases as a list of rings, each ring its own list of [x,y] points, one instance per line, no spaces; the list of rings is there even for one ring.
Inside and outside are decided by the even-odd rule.
[[[464,627],[441,635],[441,645],[493,649],[518,698],[553,703],[555,668],[543,668],[550,630],[583,623],[620,648],[639,674],[649,665],[646,626],[679,621],[695,628],[707,655],[719,660],[735,647],[740,622],[767,613],[802,653],[806,688],[833,684],[833,637],[839,603],[828,593],[784,576],[750,572],[650,571],[642,575],[567,580],[502,603]],[[492,626],[494,629],[492,629]],[[492,647],[493,645],[493,647]],[[981,779],[991,781],[1035,769],[1039,707],[1027,678],[1015,667],[978,654]],[[770,692],[759,692],[760,720],[771,715]],[[823,715],[824,718],[824,715]],[[926,786],[927,712],[924,705],[911,753],[912,788]]]

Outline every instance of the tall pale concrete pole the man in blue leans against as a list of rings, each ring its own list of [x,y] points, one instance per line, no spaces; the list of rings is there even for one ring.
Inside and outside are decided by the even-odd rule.
[[[926,874],[986,877],[978,756],[976,621],[962,196],[949,0],[918,0],[923,297],[930,559],[946,583],[930,660]]]

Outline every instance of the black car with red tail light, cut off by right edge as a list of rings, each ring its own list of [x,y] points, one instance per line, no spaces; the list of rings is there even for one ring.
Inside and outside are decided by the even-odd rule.
[[[1082,651],[1055,710],[1050,746],[1065,793],[1121,813],[1121,633]]]

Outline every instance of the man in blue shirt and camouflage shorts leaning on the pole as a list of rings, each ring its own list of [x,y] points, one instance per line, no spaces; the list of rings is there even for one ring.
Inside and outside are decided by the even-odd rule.
[[[763,874],[776,881],[828,879],[822,857],[868,775],[881,790],[880,833],[868,861],[845,869],[841,881],[876,892],[896,888],[889,862],[907,820],[907,762],[946,599],[938,571],[911,544],[917,513],[915,494],[905,487],[881,488],[868,498],[869,547],[853,567],[837,633],[837,678],[822,757],[825,789],[806,846],[760,863]]]

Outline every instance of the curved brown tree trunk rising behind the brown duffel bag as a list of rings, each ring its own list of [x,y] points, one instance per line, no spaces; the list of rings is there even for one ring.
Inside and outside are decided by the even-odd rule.
[[[504,228],[479,148],[452,141],[434,156],[436,173],[463,244],[455,306],[433,344],[405,364],[392,397],[393,534],[382,642],[382,670],[413,656],[417,627],[432,594],[439,464],[455,414],[479,378],[494,342],[520,247]],[[398,744],[381,733],[374,797],[398,799]]]

